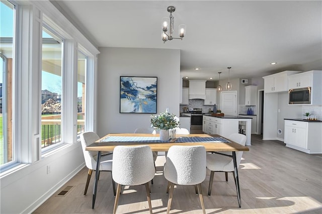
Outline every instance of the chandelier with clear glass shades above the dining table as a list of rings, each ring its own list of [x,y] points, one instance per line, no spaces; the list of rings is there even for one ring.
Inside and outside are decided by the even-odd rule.
[[[168,40],[173,40],[173,39],[181,39],[185,36],[186,34],[186,25],[181,24],[179,25],[179,37],[180,38],[175,38],[172,36],[173,30],[174,30],[174,21],[175,18],[172,16],[172,13],[176,11],[176,8],[174,6],[169,6],[168,7],[168,12],[170,13],[170,18],[168,17],[163,17],[162,18],[162,40],[163,43],[166,43]],[[170,26],[169,26],[170,24]],[[169,32],[168,32],[169,30]],[[168,33],[167,33],[168,32]]]

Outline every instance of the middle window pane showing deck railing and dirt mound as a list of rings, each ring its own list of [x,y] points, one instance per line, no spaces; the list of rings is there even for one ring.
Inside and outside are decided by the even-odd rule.
[[[61,142],[62,41],[43,27],[41,148]]]

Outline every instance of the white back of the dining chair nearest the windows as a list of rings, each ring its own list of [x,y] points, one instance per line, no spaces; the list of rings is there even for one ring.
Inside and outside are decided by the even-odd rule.
[[[81,134],[81,143],[84,154],[84,159],[87,168],[95,170],[96,169],[96,160],[93,156],[96,155],[96,152],[86,151],[86,147],[99,140],[100,137],[95,132],[84,132]]]

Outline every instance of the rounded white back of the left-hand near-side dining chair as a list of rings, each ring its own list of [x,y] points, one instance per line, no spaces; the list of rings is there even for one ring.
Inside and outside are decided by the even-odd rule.
[[[121,185],[140,185],[155,174],[152,150],[149,146],[116,146],[113,150],[112,177]]]

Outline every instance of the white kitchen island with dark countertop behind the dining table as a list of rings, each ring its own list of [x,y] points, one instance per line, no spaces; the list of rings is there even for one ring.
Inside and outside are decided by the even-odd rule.
[[[252,118],[240,116],[203,116],[202,131],[210,135],[221,135],[228,138],[233,133],[238,133],[239,122],[246,123],[246,145],[251,146]]]

